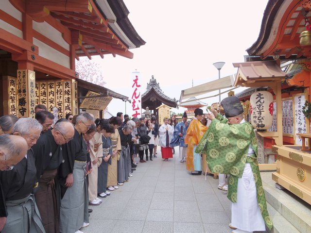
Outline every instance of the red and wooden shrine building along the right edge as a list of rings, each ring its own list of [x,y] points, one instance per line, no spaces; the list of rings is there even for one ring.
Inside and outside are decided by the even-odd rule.
[[[308,0],[269,0],[265,9],[259,37],[251,48],[246,63],[275,60],[278,67],[288,63],[283,70],[296,66],[295,72],[283,77],[280,83],[252,82],[242,67],[236,64],[237,83],[249,87],[268,86],[273,89],[275,99],[275,129],[262,132],[270,140],[276,154],[276,172],[272,179],[294,195],[311,204],[311,145],[310,122],[302,113],[305,101],[311,101],[311,3]],[[254,68],[254,66],[253,66]],[[270,72],[266,69],[264,72]],[[272,73],[272,72],[270,72]],[[240,77],[240,76],[241,77]],[[259,78],[261,73],[258,72]],[[247,98],[244,96],[241,98]],[[241,99],[240,98],[240,99]],[[306,140],[308,141],[308,140]],[[307,147],[307,149],[306,149]]]

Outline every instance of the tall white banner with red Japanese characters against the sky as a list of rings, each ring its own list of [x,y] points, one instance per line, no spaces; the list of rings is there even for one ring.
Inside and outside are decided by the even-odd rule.
[[[131,86],[132,86],[132,96],[131,96],[131,110],[133,111],[132,117],[141,117],[141,88],[142,77],[139,72],[132,72]]]

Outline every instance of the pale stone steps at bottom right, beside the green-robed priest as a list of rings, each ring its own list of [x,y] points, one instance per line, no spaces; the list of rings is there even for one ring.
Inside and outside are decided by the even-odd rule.
[[[271,212],[275,214],[272,215],[275,225],[272,233],[311,233],[311,205],[286,189],[276,188],[275,182],[271,178],[272,172],[261,172],[260,174],[266,200],[276,211],[271,209]]]

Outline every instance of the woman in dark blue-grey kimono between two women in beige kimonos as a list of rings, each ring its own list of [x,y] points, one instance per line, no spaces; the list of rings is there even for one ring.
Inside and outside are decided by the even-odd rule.
[[[111,142],[111,133],[115,133],[115,127],[109,123],[107,119],[104,119],[103,124],[103,158],[102,163],[98,167],[98,180],[97,180],[97,193],[101,197],[110,195],[110,192],[106,190],[107,188],[107,177],[108,177],[108,164],[111,165],[111,156],[112,156],[112,142]]]

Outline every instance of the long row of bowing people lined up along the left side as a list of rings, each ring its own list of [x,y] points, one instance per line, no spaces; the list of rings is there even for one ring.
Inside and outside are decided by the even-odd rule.
[[[54,124],[44,105],[35,112],[35,118],[0,117],[3,233],[82,233],[89,207],[133,176],[134,157],[139,154],[140,163],[157,157],[155,116],[130,120],[120,112],[94,119],[82,112]]]

